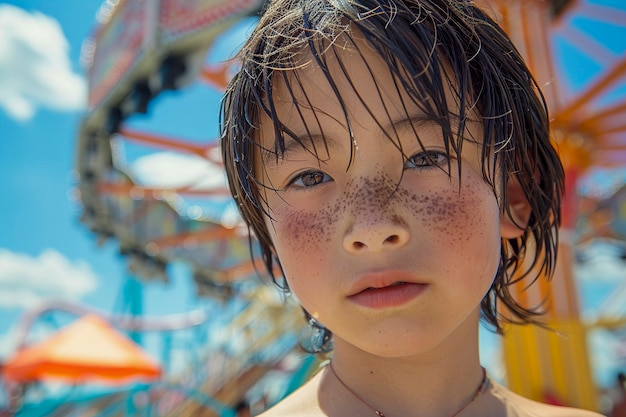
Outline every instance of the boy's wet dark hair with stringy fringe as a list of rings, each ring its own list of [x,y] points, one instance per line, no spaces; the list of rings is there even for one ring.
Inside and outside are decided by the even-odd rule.
[[[547,108],[536,82],[507,35],[472,1],[274,0],[266,5],[239,53],[241,70],[226,91],[221,140],[231,192],[260,243],[274,282],[280,262],[264,221],[271,209],[262,190],[271,187],[258,175],[260,123],[273,124],[275,145],[262,152],[274,153],[277,161],[285,137],[317,155],[310,138],[297,137],[280,120],[275,88],[278,83],[286,87],[281,91],[291,94],[296,108],[311,108],[294,96],[294,91],[306,96],[297,68],[308,59],[337,92],[333,77],[351,82],[341,60],[346,47],[357,57],[362,57],[360,48],[367,47],[382,58],[395,88],[406,91],[410,104],[440,126],[449,154],[459,155],[463,142],[482,144],[483,178],[498,196],[503,215],[511,219],[505,185],[519,182],[532,213],[528,224],[520,225],[524,230],[520,237],[502,239],[500,265],[482,300],[481,313],[483,321],[499,333],[502,322],[536,322],[539,306],[521,305],[510,289],[520,280],[529,280],[530,285],[553,274],[564,173],[550,143]],[[328,70],[329,57],[344,68],[343,74]],[[453,91],[454,106],[446,102],[446,88]],[[342,98],[338,93],[336,98],[344,109],[340,117],[350,130]],[[482,138],[471,137],[466,129],[466,122],[476,115]],[[386,134],[394,140],[393,132]],[[288,290],[286,281],[279,285]]]

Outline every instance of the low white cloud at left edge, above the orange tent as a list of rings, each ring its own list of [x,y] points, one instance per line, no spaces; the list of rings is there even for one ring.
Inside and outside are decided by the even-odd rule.
[[[0,249],[0,307],[29,309],[47,299],[76,300],[97,284],[86,262],[72,262],[54,249],[39,257]]]

